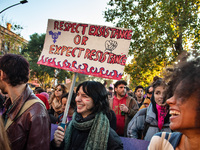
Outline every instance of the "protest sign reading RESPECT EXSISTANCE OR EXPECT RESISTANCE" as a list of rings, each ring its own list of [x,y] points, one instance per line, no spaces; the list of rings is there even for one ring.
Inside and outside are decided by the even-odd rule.
[[[131,37],[128,29],[49,19],[37,64],[120,80]]]

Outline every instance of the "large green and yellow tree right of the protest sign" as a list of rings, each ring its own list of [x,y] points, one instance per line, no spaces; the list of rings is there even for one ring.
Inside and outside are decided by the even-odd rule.
[[[133,85],[148,85],[163,67],[180,59],[182,53],[199,55],[200,2],[196,0],[110,0],[106,21],[133,30],[125,66]]]

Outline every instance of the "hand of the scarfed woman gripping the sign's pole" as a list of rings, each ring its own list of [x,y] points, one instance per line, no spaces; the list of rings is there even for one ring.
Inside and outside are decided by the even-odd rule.
[[[64,136],[65,136],[65,130],[61,126],[58,126],[57,130],[54,133],[54,142],[56,144],[56,147],[60,147],[64,139]]]

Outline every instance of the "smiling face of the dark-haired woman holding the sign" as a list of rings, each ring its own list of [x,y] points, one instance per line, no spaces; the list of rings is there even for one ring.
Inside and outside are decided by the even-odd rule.
[[[83,92],[82,86],[77,92],[75,101],[77,112],[80,113],[83,118],[92,113],[90,109],[94,107],[93,99]]]

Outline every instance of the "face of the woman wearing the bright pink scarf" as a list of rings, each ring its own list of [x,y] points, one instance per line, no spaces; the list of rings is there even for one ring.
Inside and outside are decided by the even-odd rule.
[[[158,86],[154,90],[154,99],[156,104],[158,105],[163,105],[163,96],[164,96],[164,87],[163,86]]]

